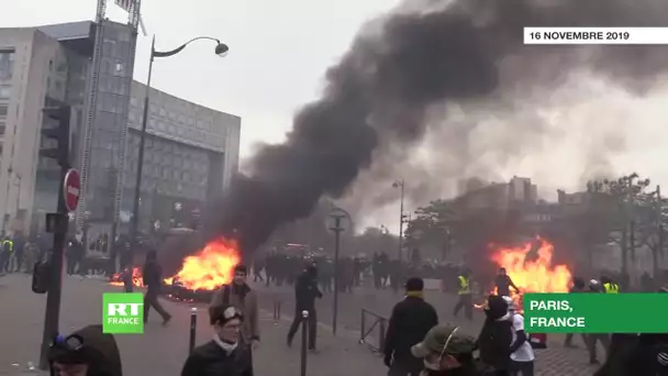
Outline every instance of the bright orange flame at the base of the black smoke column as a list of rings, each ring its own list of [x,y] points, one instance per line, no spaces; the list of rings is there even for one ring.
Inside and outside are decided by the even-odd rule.
[[[203,250],[183,259],[183,266],[165,283],[179,284],[191,290],[214,290],[232,281],[234,267],[241,262],[235,241],[216,239]]]

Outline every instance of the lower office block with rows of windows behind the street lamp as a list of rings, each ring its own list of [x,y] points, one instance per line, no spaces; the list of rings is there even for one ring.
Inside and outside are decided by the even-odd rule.
[[[121,222],[132,214],[146,86],[132,82]],[[192,211],[219,196],[238,170],[241,118],[154,88],[142,170],[144,231],[187,225]]]

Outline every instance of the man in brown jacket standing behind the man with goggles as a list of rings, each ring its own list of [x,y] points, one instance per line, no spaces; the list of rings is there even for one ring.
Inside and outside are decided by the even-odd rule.
[[[242,340],[249,343],[253,350],[259,345],[259,313],[257,295],[248,284],[248,268],[238,264],[234,267],[232,284],[223,285],[213,294],[211,306],[234,306],[244,314]]]

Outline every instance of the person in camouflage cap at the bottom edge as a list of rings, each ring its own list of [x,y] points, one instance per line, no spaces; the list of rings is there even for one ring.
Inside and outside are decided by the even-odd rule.
[[[459,327],[439,324],[413,345],[411,353],[423,362],[420,376],[478,376],[482,372],[474,358],[475,350],[476,341]]]

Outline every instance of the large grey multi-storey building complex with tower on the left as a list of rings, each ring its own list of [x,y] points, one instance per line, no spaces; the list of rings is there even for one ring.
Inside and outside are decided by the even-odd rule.
[[[58,166],[38,156],[47,98],[73,108],[71,163],[79,169],[87,166],[88,173],[79,213],[88,237],[111,234],[114,224],[127,222],[145,92],[132,80],[135,38],[131,25],[109,20],[100,25],[85,21],[0,29],[0,187],[5,188],[0,213],[5,230],[40,232],[44,214],[56,207]],[[159,207],[168,197],[194,208],[223,189],[238,166],[241,126],[237,117],[157,90],[152,97],[145,154],[149,167],[144,168],[142,190],[145,221],[163,218],[154,214],[151,200]],[[154,163],[160,166],[159,177]],[[180,175],[164,173],[167,166]]]

